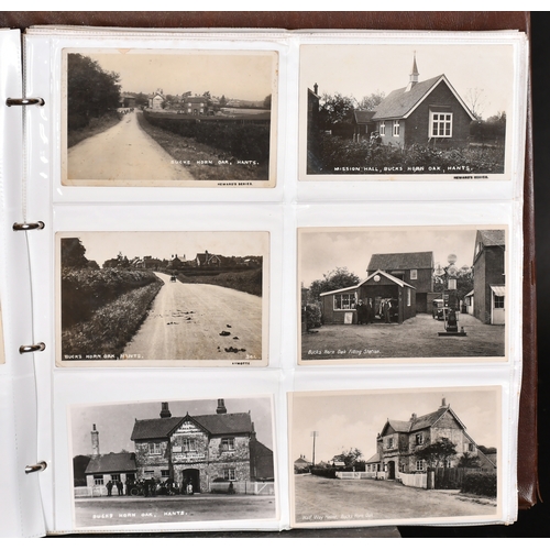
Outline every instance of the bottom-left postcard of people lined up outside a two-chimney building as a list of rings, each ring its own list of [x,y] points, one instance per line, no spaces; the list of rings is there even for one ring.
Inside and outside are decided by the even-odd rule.
[[[74,405],[68,415],[77,529],[277,518],[268,396]]]

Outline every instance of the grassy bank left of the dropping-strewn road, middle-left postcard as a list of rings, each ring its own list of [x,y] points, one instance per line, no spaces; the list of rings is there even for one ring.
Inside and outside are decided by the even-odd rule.
[[[156,279],[141,288],[134,288],[106,306],[97,309],[91,319],[62,332],[62,355],[79,355],[85,359],[118,359],[128,342],[147,317],[147,311],[163,282]],[[97,358],[86,358],[97,355]]]

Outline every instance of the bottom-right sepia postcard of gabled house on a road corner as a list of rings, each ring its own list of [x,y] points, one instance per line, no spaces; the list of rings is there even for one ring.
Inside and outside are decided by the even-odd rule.
[[[292,393],[293,527],[494,521],[501,387]]]

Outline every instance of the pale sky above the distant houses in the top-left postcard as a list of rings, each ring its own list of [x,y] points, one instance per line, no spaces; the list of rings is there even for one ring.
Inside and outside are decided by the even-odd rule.
[[[112,50],[79,51],[101,68],[120,75],[123,92],[182,95],[191,91],[263,101],[272,94],[277,57],[272,52]]]

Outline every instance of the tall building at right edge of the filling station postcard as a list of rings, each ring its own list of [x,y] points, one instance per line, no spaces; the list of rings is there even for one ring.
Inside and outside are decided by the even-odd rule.
[[[479,230],[474,249],[474,317],[487,324],[506,320],[506,234],[504,229]]]

